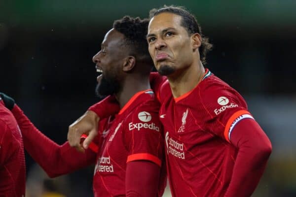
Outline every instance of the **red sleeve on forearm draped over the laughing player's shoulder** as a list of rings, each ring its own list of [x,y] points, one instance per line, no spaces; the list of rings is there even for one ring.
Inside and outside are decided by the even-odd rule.
[[[120,111],[120,106],[114,96],[108,96],[105,99],[90,106],[88,110],[95,112],[100,119],[108,118]]]

